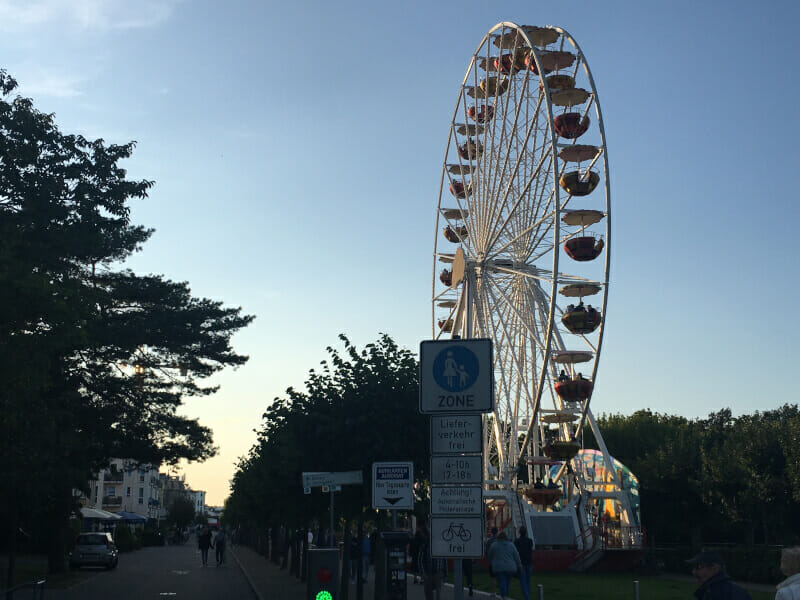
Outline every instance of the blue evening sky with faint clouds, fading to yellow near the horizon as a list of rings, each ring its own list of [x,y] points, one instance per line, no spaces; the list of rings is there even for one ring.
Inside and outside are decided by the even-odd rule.
[[[459,85],[500,21],[578,41],[613,207],[595,414],[796,403],[796,2],[0,0],[0,68],[62,131],[137,141],[156,182],[128,266],[241,306],[247,365],[186,414],[220,505],[270,402],[325,348],[430,337],[439,179]],[[795,257],[795,258],[793,258]],[[613,449],[612,449],[613,453]],[[299,482],[298,482],[299,483]]]

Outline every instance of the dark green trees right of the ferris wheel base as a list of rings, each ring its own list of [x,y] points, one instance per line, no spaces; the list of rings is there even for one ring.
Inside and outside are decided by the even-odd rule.
[[[800,541],[797,405],[704,419],[640,410],[603,415],[598,425],[609,451],[639,478],[651,541]]]

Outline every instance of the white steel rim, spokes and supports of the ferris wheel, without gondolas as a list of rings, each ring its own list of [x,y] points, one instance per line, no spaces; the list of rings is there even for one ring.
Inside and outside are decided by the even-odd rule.
[[[496,386],[502,390],[502,393],[496,392],[498,408],[493,414],[489,415],[491,423],[484,428],[486,431],[484,449],[487,457],[484,467],[484,479],[487,486],[500,489],[512,488],[520,459],[526,456],[526,453],[528,456],[531,455],[535,450],[535,444],[540,441],[542,410],[548,410],[543,409],[542,406],[545,395],[552,400],[553,407],[550,409],[552,412],[558,412],[564,408],[564,403],[560,402],[553,389],[558,365],[553,363],[552,357],[556,351],[575,350],[575,348],[572,347],[572,344],[565,342],[556,322],[557,312],[563,314],[563,310],[561,310],[558,303],[559,286],[593,283],[600,288],[599,293],[602,294],[602,302],[599,305],[599,310],[602,319],[598,329],[588,336],[575,336],[575,338],[581,340],[582,347],[579,350],[592,353],[591,381],[593,382],[597,381],[600,351],[606,323],[611,247],[611,187],[602,112],[594,78],[580,46],[564,29],[560,27],[549,27],[548,29],[558,32],[559,50],[568,50],[575,54],[575,65],[571,73],[576,81],[581,74],[580,69],[582,67],[582,75],[585,77],[585,82],[589,88],[587,91],[590,94],[585,102],[585,108],[582,109],[583,114],[588,115],[589,111],[594,109],[594,118],[596,119],[594,123],[596,127],[595,139],[599,141],[593,143],[593,145],[599,148],[599,152],[586,168],[587,170],[602,170],[600,175],[603,189],[601,205],[605,217],[602,220],[603,236],[605,238],[604,261],[602,269],[594,269],[599,273],[599,277],[596,275],[595,277],[584,277],[578,274],[580,265],[584,263],[575,262],[573,264],[573,261],[568,258],[565,260],[570,262],[570,267],[574,266],[576,268],[570,268],[571,272],[569,273],[559,270],[561,245],[569,237],[575,235],[575,232],[568,232],[562,237],[561,217],[566,210],[570,209],[570,206],[575,206],[578,209],[583,208],[583,199],[574,198],[566,193],[562,195],[558,181],[560,175],[566,172],[569,167],[566,161],[558,157],[558,152],[565,146],[580,142],[574,139],[561,139],[555,132],[553,127],[554,106],[552,94],[545,78],[540,78],[539,75],[525,68],[522,72],[517,73],[516,76],[512,74],[506,77],[509,82],[508,86],[511,89],[505,93],[505,96],[502,95],[503,92],[496,93],[496,90],[494,94],[491,91],[484,93],[483,106],[485,107],[489,104],[489,99],[494,99],[492,106],[493,110],[496,111],[495,114],[503,113],[503,127],[500,132],[496,130],[497,117],[490,118],[484,126],[480,126],[475,120],[470,121],[467,115],[467,96],[470,93],[474,94],[473,97],[477,108],[480,104],[478,100],[481,97],[481,92],[478,91],[480,89],[478,82],[481,77],[488,79],[492,75],[489,68],[481,74],[479,64],[484,61],[484,65],[489,65],[493,57],[503,53],[502,41],[498,46],[499,50],[491,47],[491,42],[498,39],[498,32],[500,32],[501,38],[509,34],[515,34],[518,40],[522,40],[525,50],[532,53],[538,73],[546,72],[542,66],[542,54],[545,51],[532,42],[526,32],[529,29],[515,23],[504,21],[495,25],[484,36],[472,55],[451,120],[436,212],[431,302],[433,338],[439,339],[447,333],[445,329],[439,326],[438,318],[442,316],[441,307],[442,303],[444,303],[446,308],[449,308],[449,314],[446,313],[444,315],[444,320],[450,323],[452,336],[463,338],[490,337],[495,341],[495,379]],[[516,52],[516,47],[513,48],[513,51]],[[495,71],[494,75],[497,75],[496,85],[500,87],[502,84],[501,74]],[[540,81],[543,82],[541,86]],[[534,88],[534,86],[535,90],[538,90],[538,94],[531,93],[531,88]],[[491,88],[487,89],[491,90]],[[522,97],[523,94],[526,94],[524,98]],[[536,106],[534,107],[533,118],[529,120],[527,131],[522,140],[520,140],[519,136],[513,136],[518,133],[516,129],[518,124],[525,127],[526,121],[524,118],[526,115],[531,114],[530,109],[534,95],[536,96]],[[511,130],[507,130],[505,118],[509,116],[508,105],[512,101],[514,102],[512,107],[514,109],[513,127]],[[523,120],[520,120],[523,110],[528,112],[522,115]],[[540,133],[540,131],[534,131],[539,121],[547,124],[547,139],[541,140],[538,148],[534,143],[534,149],[538,149],[540,152],[540,156],[537,158],[536,156],[531,156],[532,153],[527,152],[526,147],[529,144],[530,137],[532,135],[538,136]],[[471,126],[472,128],[470,128]],[[499,136],[499,140],[496,140],[495,136]],[[496,153],[492,162],[485,158],[488,152],[481,157],[474,158],[475,148],[468,149],[466,151],[467,156],[464,159],[459,156],[459,142],[469,141],[473,138],[480,141],[482,146],[490,152]],[[506,144],[505,153],[501,152],[503,144]],[[453,160],[454,156],[455,161]],[[514,157],[516,157],[516,164],[512,167],[511,173],[513,174],[506,176],[504,175],[505,170]],[[531,162],[531,159],[533,162]],[[475,160],[474,165],[472,164],[473,160]],[[525,162],[525,160],[528,160],[528,162]],[[549,161],[549,164],[544,164],[545,161]],[[452,177],[451,167],[455,168],[456,173],[460,169],[461,174],[464,176]],[[488,167],[491,167],[491,169]],[[527,176],[523,177],[527,179],[527,182],[521,186],[521,189],[514,190],[512,184],[517,181],[517,173],[520,168],[528,169]],[[464,183],[467,189],[465,197],[454,198],[448,191],[451,181],[460,180],[461,182],[466,182],[466,175],[469,175],[469,183]],[[497,183],[498,177],[503,184],[507,184],[505,189],[502,190],[503,196],[501,198],[498,198],[497,194],[502,187]],[[476,182],[477,185],[472,187],[472,184]],[[533,193],[531,192],[532,187],[534,188]],[[598,192],[600,192],[600,186],[592,194],[593,200],[596,200]],[[515,193],[516,197],[514,196]],[[515,235],[505,241],[501,241],[504,234],[507,234],[509,228],[512,227],[512,220],[517,218],[524,219],[524,212],[529,208],[527,202],[535,194],[538,194],[535,198],[537,205],[534,207],[534,210],[537,211],[537,218],[530,222],[524,222],[522,228],[517,230]],[[546,194],[549,195],[548,198],[544,198]],[[510,205],[508,204],[509,197],[512,198]],[[549,208],[542,210],[542,214],[539,214],[538,211],[543,202]],[[570,202],[572,202],[572,205],[570,205]],[[492,204],[495,205],[494,208],[499,206],[501,210],[493,212]],[[597,202],[595,201],[594,204],[597,204]],[[503,210],[508,206],[510,206],[508,210]],[[455,218],[452,216],[453,208],[458,213]],[[463,218],[460,218],[462,215]],[[477,228],[475,230],[471,229],[481,223],[484,225],[481,230]],[[455,288],[448,289],[447,287],[442,290],[442,284],[437,277],[438,269],[443,266],[441,261],[451,260],[453,254],[450,251],[455,247],[449,242],[440,239],[442,227],[445,225],[456,228],[464,226],[467,230],[466,235],[459,240],[460,243],[457,245],[466,255],[464,280],[458,290]],[[532,233],[534,231],[538,233],[543,227],[544,234],[541,237],[534,238]],[[548,231],[552,233],[548,233]],[[550,242],[545,239],[547,235],[552,238]],[[475,237],[473,236],[481,238],[482,242],[474,241]],[[528,243],[523,244],[525,250],[521,258],[524,260],[509,261],[510,249],[516,241],[522,238],[528,239]],[[531,241],[533,241],[532,244]],[[547,247],[540,248],[543,241],[547,242]],[[446,251],[442,251],[442,245],[445,246],[444,250]],[[481,250],[483,250],[482,253],[480,252]],[[527,256],[525,256],[526,253]],[[552,255],[552,260],[545,268],[543,263],[546,262],[548,254]],[[520,257],[517,256],[517,258]],[[500,281],[507,282],[507,285],[498,285]],[[488,282],[488,285],[485,285],[484,282]],[[530,303],[522,304],[520,302],[520,296],[518,293],[513,292],[512,289],[513,285],[511,284],[514,282],[517,284],[526,282],[527,297],[528,299],[534,299],[534,306],[531,306]],[[546,287],[549,287],[549,289],[545,289]],[[487,319],[493,325],[492,327],[488,327]],[[512,319],[516,319],[514,323],[517,331],[508,330]],[[538,347],[538,360],[535,351],[532,353],[535,356],[530,357],[527,354],[531,353],[525,353],[527,348],[518,348],[518,351],[515,351],[514,348],[508,347],[506,342],[512,340],[514,334],[520,332],[520,328],[526,330],[523,337],[527,335],[529,342]],[[566,332],[566,334],[569,336],[575,335],[569,332]],[[572,341],[572,338],[570,341]],[[499,348],[498,345],[500,346]],[[533,367],[535,373],[531,373],[531,369],[527,366],[531,360],[537,360]],[[574,366],[569,368],[574,372]],[[530,385],[530,377],[523,377],[531,374],[535,375],[534,386]],[[512,386],[513,389],[509,389]],[[514,399],[510,399],[512,392],[516,392],[513,394]],[[608,454],[589,408],[589,400],[590,398],[583,403],[580,420],[572,434],[580,435],[583,427],[588,423],[595,434],[607,464],[612,464],[612,459]],[[522,411],[520,411],[521,406],[524,409]],[[525,414],[520,414],[521,412]],[[522,421],[523,418],[527,419],[527,424]],[[521,430],[521,427],[524,431]],[[558,427],[566,432],[569,425],[564,423]],[[522,442],[519,441],[520,434],[523,435]],[[497,473],[491,472],[492,463],[499,465]],[[563,472],[564,468],[562,468],[559,476]],[[617,478],[615,482],[617,489],[621,489],[619,475],[615,473],[614,476]]]

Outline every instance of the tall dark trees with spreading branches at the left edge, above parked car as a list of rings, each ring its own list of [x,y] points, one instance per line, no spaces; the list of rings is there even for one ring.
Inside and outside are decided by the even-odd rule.
[[[123,262],[153,230],[130,203],[134,144],[62,133],[15,95],[0,70],[0,514],[11,552],[20,529],[46,538],[64,568],[73,490],[111,457],[159,465],[215,453],[211,431],[178,414],[211,394],[202,380],[247,357],[231,336],[252,317],[141,276]]]

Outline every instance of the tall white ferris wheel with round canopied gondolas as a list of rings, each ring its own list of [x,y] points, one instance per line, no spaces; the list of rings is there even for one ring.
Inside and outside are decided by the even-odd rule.
[[[529,483],[558,464],[557,479],[575,477],[568,465],[587,427],[612,464],[590,409],[610,217],[603,118],[583,52],[561,28],[498,23],[453,112],[432,292],[434,339],[494,344],[489,489],[519,490],[526,467]]]

